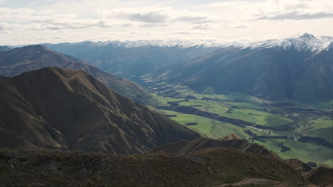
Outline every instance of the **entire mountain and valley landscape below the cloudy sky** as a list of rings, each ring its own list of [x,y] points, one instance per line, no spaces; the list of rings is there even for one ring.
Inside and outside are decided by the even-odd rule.
[[[0,186],[332,186],[332,43],[0,47]]]

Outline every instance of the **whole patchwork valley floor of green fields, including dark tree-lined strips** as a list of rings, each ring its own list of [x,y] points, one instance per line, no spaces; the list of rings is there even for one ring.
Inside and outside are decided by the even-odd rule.
[[[311,106],[287,106],[288,110],[291,110],[290,108],[294,110],[290,112],[283,108],[286,106],[270,105],[268,101],[245,94],[231,96],[197,94],[185,87],[178,87],[176,91],[178,94],[181,93],[183,98],[156,95],[162,102],[162,108],[164,107],[164,109],[159,109],[159,112],[168,115],[182,125],[187,125],[201,135],[218,138],[236,133],[252,141],[251,136],[245,133],[245,130],[248,129],[256,136],[263,137],[254,140],[255,143],[273,150],[283,159],[298,158],[302,159],[303,162],[316,162],[317,164],[333,166],[332,147],[330,149],[315,142],[295,141],[295,130],[302,125],[303,128],[300,128],[296,133],[296,139],[301,136],[322,137],[332,144],[332,117],[319,116],[311,111],[313,109]],[[170,109],[167,108],[169,106]],[[200,113],[189,114],[177,111],[177,107],[180,106],[194,108],[194,111],[213,115],[202,116]],[[258,128],[258,130],[248,128],[246,125],[242,127],[232,122],[226,123],[211,116],[222,116],[240,120],[246,124],[251,123],[250,126]],[[268,138],[274,136],[286,137],[285,139]],[[285,147],[289,147],[290,150],[280,152],[281,143]]]

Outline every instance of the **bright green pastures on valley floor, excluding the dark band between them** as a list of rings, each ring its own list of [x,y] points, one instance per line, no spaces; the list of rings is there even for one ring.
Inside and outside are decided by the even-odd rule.
[[[297,125],[297,121],[293,123],[292,120],[285,118],[284,115],[279,115],[278,113],[269,113],[268,109],[263,105],[263,100],[260,98],[255,98],[253,96],[247,96],[246,94],[235,94],[233,96],[227,95],[208,95],[208,94],[197,94],[194,91],[186,89],[186,87],[180,87],[177,91],[184,95],[195,94],[196,98],[199,99],[189,99],[184,101],[184,98],[171,98],[157,96],[162,102],[162,105],[169,105],[168,102],[183,101],[179,102],[179,106],[192,106],[201,111],[206,111],[209,113],[217,113],[221,116],[226,116],[228,118],[235,118],[239,120],[245,120],[250,123],[255,123],[257,125],[268,125],[275,128],[282,127],[284,125],[290,126],[288,131],[271,131],[271,135],[287,135],[287,140],[276,140],[276,139],[263,139],[266,142],[259,142],[254,140],[255,143],[263,145],[273,152],[277,153],[282,159],[298,158],[303,162],[316,162],[317,164],[327,164],[333,166],[333,152],[332,149],[321,147],[315,145],[314,143],[302,143],[293,140],[294,132],[300,126]],[[201,98],[209,98],[208,100],[203,100]],[[211,100],[213,99],[213,100]],[[233,99],[238,99],[235,102]],[[241,102],[240,102],[240,100]],[[233,108],[231,113],[226,113],[229,108]],[[210,118],[203,118],[198,115],[189,115],[184,113],[178,113],[174,111],[158,110],[160,113],[177,115],[176,117],[171,117],[171,119],[185,125],[186,123],[198,123],[198,125],[186,125],[188,128],[201,133],[201,135],[211,138],[219,138],[226,136],[230,133],[236,133],[240,137],[249,140],[249,135],[245,134],[245,128],[240,128],[231,123],[223,123],[218,120],[212,120]],[[250,114],[251,115],[250,115]],[[332,118],[324,117],[318,119],[306,120],[305,126],[301,130],[297,131],[297,134],[323,137],[325,140],[332,143],[333,134],[333,123]],[[250,128],[249,128],[250,129]],[[269,135],[266,132],[260,132],[258,130],[250,129],[257,135]],[[250,140],[249,140],[250,141]],[[283,142],[285,146],[290,147],[290,151],[279,152],[280,147],[278,144]]]

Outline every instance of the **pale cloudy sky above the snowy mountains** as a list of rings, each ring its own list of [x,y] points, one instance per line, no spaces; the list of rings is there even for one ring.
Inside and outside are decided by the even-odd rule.
[[[0,0],[0,45],[333,35],[332,0]]]

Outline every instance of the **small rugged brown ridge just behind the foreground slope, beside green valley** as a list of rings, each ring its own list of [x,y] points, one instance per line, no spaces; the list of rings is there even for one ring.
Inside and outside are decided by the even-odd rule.
[[[210,138],[201,138],[192,141],[181,141],[181,142],[173,142],[167,145],[162,145],[161,147],[154,147],[150,152],[154,153],[189,153],[196,152],[201,149],[211,148],[211,147],[231,147],[235,149],[239,149],[243,152],[257,153],[262,154],[266,157],[275,157],[277,155],[273,152],[270,152],[268,149],[263,147],[262,145],[251,144],[247,140],[243,139],[230,139],[230,135],[227,137],[223,137],[220,140],[213,140]]]

